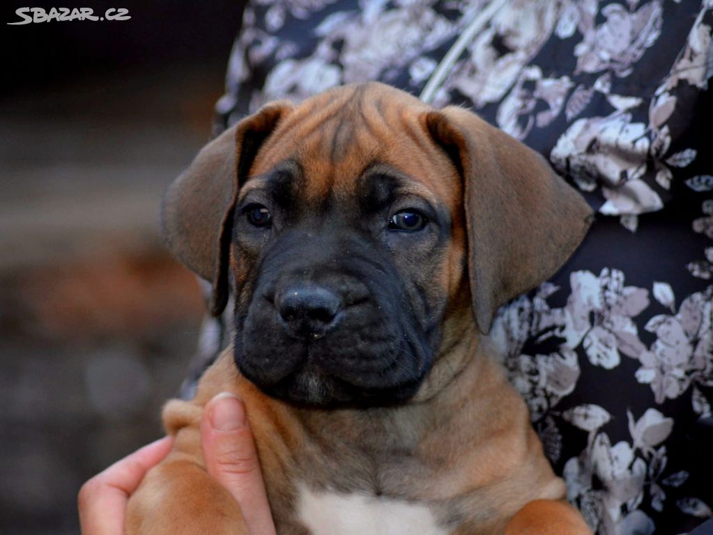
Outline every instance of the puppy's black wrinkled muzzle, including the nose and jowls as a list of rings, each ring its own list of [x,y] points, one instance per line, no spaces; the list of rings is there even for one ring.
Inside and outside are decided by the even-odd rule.
[[[262,259],[237,317],[238,368],[266,393],[310,405],[408,398],[433,344],[415,326],[403,279],[353,232],[304,237],[284,234]]]

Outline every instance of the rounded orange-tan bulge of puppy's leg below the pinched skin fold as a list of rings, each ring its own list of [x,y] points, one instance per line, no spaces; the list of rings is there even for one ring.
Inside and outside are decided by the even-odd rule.
[[[176,460],[146,474],[129,499],[125,535],[248,535],[240,507],[198,464]]]

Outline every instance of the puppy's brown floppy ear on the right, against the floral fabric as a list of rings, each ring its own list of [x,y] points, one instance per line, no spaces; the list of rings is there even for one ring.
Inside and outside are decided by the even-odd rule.
[[[473,311],[488,333],[498,307],[565,263],[592,210],[537,152],[468,110],[429,112],[426,126],[463,177]]]

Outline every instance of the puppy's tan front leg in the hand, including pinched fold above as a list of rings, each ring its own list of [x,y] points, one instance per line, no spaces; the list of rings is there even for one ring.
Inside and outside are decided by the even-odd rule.
[[[129,499],[126,535],[247,535],[235,499],[205,472],[202,407],[173,400],[163,412],[173,451],[150,469]]]

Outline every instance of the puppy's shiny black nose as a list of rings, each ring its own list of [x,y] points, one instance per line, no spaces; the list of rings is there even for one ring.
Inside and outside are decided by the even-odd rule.
[[[336,294],[316,285],[289,286],[275,304],[289,331],[299,336],[324,334],[342,309]]]

